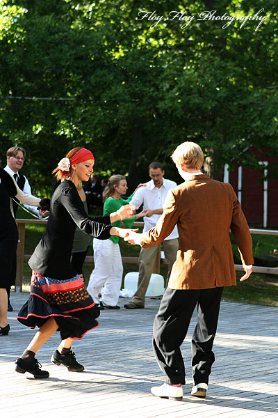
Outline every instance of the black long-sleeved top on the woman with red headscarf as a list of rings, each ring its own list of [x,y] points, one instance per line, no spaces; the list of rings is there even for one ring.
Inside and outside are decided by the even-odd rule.
[[[47,229],[28,262],[31,269],[52,279],[74,277],[76,271],[70,263],[70,256],[76,225],[99,240],[111,237],[110,217],[89,217],[74,183],[64,180],[51,198]]]

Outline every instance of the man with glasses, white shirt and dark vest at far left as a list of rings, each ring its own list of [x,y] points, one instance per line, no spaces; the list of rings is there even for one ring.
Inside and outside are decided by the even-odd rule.
[[[19,170],[22,169],[25,158],[25,150],[19,146],[12,146],[7,151],[7,165],[5,171],[15,178],[19,189],[26,194],[31,195],[31,187],[25,176],[19,173]],[[17,200],[17,199],[16,199]],[[17,201],[18,202],[18,201]],[[18,202],[19,203],[19,202]],[[24,205],[28,210],[32,210],[36,215],[40,216],[40,212],[33,206]],[[13,201],[13,213],[16,217],[18,204]],[[14,276],[16,276],[16,265],[14,267]],[[10,304],[10,295],[8,294],[8,311],[13,311],[13,307]]]

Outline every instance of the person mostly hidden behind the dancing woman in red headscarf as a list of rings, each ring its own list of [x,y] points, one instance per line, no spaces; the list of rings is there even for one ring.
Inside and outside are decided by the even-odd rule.
[[[88,213],[88,206],[86,202],[85,193],[82,188],[82,182],[76,186],[77,192],[80,196],[81,201],[83,202],[85,212]],[[81,229],[76,226],[76,231],[74,234],[74,244],[72,247],[72,266],[76,270],[79,277],[84,281],[83,278],[83,263],[85,261],[88,248],[92,243],[92,237],[87,233],[81,231]]]

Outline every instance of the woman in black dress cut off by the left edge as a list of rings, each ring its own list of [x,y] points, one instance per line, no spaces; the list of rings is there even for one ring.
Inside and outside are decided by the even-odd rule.
[[[0,168],[0,335],[8,335],[8,293],[13,286],[17,268],[18,231],[13,217],[12,198],[31,206],[39,206],[40,199],[19,189],[10,174]]]

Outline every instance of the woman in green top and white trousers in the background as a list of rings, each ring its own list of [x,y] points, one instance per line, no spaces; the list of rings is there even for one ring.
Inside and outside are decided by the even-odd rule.
[[[138,185],[136,190],[141,186],[143,184]],[[108,185],[102,194],[104,198],[104,215],[109,215],[119,210],[123,205],[131,201],[136,190],[129,199],[124,200],[121,196],[126,194],[126,190],[127,186],[124,176],[115,174],[109,178]],[[131,219],[124,219],[112,225],[121,226],[122,222],[124,222],[128,228],[131,228],[133,222],[142,216],[145,216],[145,211],[134,215]],[[117,306],[117,301],[122,284],[123,267],[119,238],[114,235],[108,240],[97,240],[94,238],[93,247],[95,269],[92,270],[90,275],[87,290],[94,302],[99,304],[100,309],[120,309]],[[100,292],[101,299],[99,300]]]

